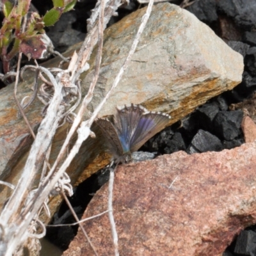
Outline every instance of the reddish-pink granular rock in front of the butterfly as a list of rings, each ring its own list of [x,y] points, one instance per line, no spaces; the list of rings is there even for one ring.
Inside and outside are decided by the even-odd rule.
[[[120,255],[222,255],[241,229],[256,222],[255,156],[256,143],[248,143],[119,166],[113,209]],[[107,200],[108,184],[83,218],[106,211]],[[99,255],[114,255],[107,214],[83,226]],[[93,255],[80,231],[63,255],[72,252]]]

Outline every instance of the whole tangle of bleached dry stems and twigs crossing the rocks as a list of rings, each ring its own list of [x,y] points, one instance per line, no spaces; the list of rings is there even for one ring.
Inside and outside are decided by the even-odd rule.
[[[120,72],[116,76],[111,89],[92,113],[90,119],[86,121],[82,122],[82,117],[84,116],[84,111],[86,111],[88,104],[92,100],[93,90],[99,77],[103,31],[111,16],[116,15],[116,9],[122,4],[120,0],[98,1],[92,12],[91,19],[88,20],[88,35],[86,36],[79,53],[74,53],[67,70],[62,70],[61,68],[44,68],[37,64],[36,66],[27,66],[24,68],[24,70],[30,68],[35,71],[35,92],[33,97],[26,104],[24,103],[25,100],[20,104],[16,97],[17,85],[19,83],[19,58],[17,73],[15,76],[14,95],[20,109],[20,113],[26,121],[26,124],[28,124],[31,134],[35,140],[31,146],[28,159],[18,184],[15,188],[12,184],[8,184],[8,186],[13,188],[13,193],[12,196],[6,200],[6,204],[1,211],[0,256],[23,255],[24,246],[26,246],[29,252],[33,255],[39,255],[40,243],[38,239],[45,236],[45,226],[39,220],[40,212],[44,209],[46,214],[49,215],[49,209],[47,207],[49,196],[61,193],[65,200],[67,200],[66,194],[68,196],[72,195],[73,191],[72,186],[70,185],[70,179],[65,171],[74,156],[76,156],[83,141],[86,140],[88,136],[95,136],[95,134],[90,130],[90,127],[99,114],[100,109],[116,88],[125,69],[128,67],[131,56],[138,44],[140,35],[147,23],[153,3],[154,1],[150,0],[147,12],[142,18],[141,26],[136,38],[134,38],[131,50],[124,62],[124,65],[120,68]],[[90,58],[90,54],[92,53],[92,49],[95,44],[98,44],[95,76],[90,84],[88,94],[81,102],[79,76],[89,68],[87,61]],[[19,57],[21,57],[21,54]],[[21,76],[24,70],[20,72]],[[39,79],[43,81],[43,84],[40,86],[40,89],[37,89]],[[36,93],[38,93],[38,98],[45,104],[45,108],[43,111],[44,119],[42,120],[35,136],[26,115],[24,115],[23,109],[27,108],[29,104],[31,104],[33,99],[36,97]],[[80,106],[79,110],[77,114],[75,114],[74,111],[78,106]],[[66,121],[72,122],[72,127],[67,134],[67,138],[61,147],[56,161],[52,166],[50,166],[48,159],[51,153],[52,139],[58,127]],[[77,140],[67,155],[67,148],[74,132],[77,132],[78,134]],[[38,188],[32,189],[33,182],[38,173],[42,173]],[[110,191],[113,190],[113,179],[114,175],[112,173],[109,185]],[[0,184],[6,185],[6,182],[0,182]],[[112,200],[109,200],[109,209],[106,212],[109,213],[109,217],[111,219],[111,230],[115,241],[115,255],[118,255],[118,237],[115,229],[111,201]],[[74,215],[78,222],[79,220],[75,213]],[[81,228],[83,230],[83,227]],[[83,232],[93,252],[97,255],[97,252],[95,248],[93,248],[85,230],[83,230]]]

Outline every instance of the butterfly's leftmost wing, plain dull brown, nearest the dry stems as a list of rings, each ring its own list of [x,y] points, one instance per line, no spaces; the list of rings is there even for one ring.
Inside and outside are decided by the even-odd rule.
[[[109,149],[114,157],[120,157],[124,154],[122,145],[118,138],[118,134],[114,125],[107,119],[97,118],[96,124],[100,127],[100,130],[106,136]]]

